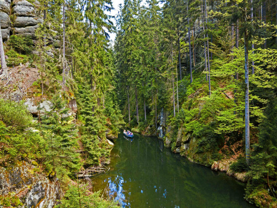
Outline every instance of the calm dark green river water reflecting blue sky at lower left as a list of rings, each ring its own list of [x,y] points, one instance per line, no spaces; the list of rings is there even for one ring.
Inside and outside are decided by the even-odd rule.
[[[253,207],[243,200],[245,184],[173,154],[157,138],[120,134],[111,156],[110,170],[94,177],[94,189],[122,207]]]

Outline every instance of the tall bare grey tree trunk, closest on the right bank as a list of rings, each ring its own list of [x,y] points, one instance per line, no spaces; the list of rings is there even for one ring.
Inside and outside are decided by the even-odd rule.
[[[244,8],[244,22],[246,23],[246,7]],[[249,69],[247,28],[244,29],[244,76],[245,76],[245,156],[249,165],[250,159],[250,121],[249,121]]]

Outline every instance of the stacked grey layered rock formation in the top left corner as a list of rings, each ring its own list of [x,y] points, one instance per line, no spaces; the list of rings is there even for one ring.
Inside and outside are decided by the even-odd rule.
[[[2,39],[7,40],[10,35],[31,36],[34,39],[36,29],[43,23],[37,7],[38,4],[27,0],[0,0]]]

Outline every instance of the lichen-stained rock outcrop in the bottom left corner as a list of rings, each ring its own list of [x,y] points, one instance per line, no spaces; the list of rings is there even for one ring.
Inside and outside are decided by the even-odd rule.
[[[0,195],[13,193],[24,207],[52,208],[61,197],[57,179],[52,181],[27,161],[0,167]]]

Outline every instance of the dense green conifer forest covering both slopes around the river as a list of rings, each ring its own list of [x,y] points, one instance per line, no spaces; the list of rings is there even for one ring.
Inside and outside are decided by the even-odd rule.
[[[27,5],[35,9],[16,10]],[[0,179],[26,167],[58,179],[52,207],[118,207],[79,176],[106,168],[110,143],[128,128],[245,182],[247,202],[277,207],[277,2],[124,0],[113,9],[111,0],[1,7]],[[20,34],[31,18],[34,31]],[[0,183],[0,206],[50,206],[45,196],[28,204],[32,186],[21,180]]]

